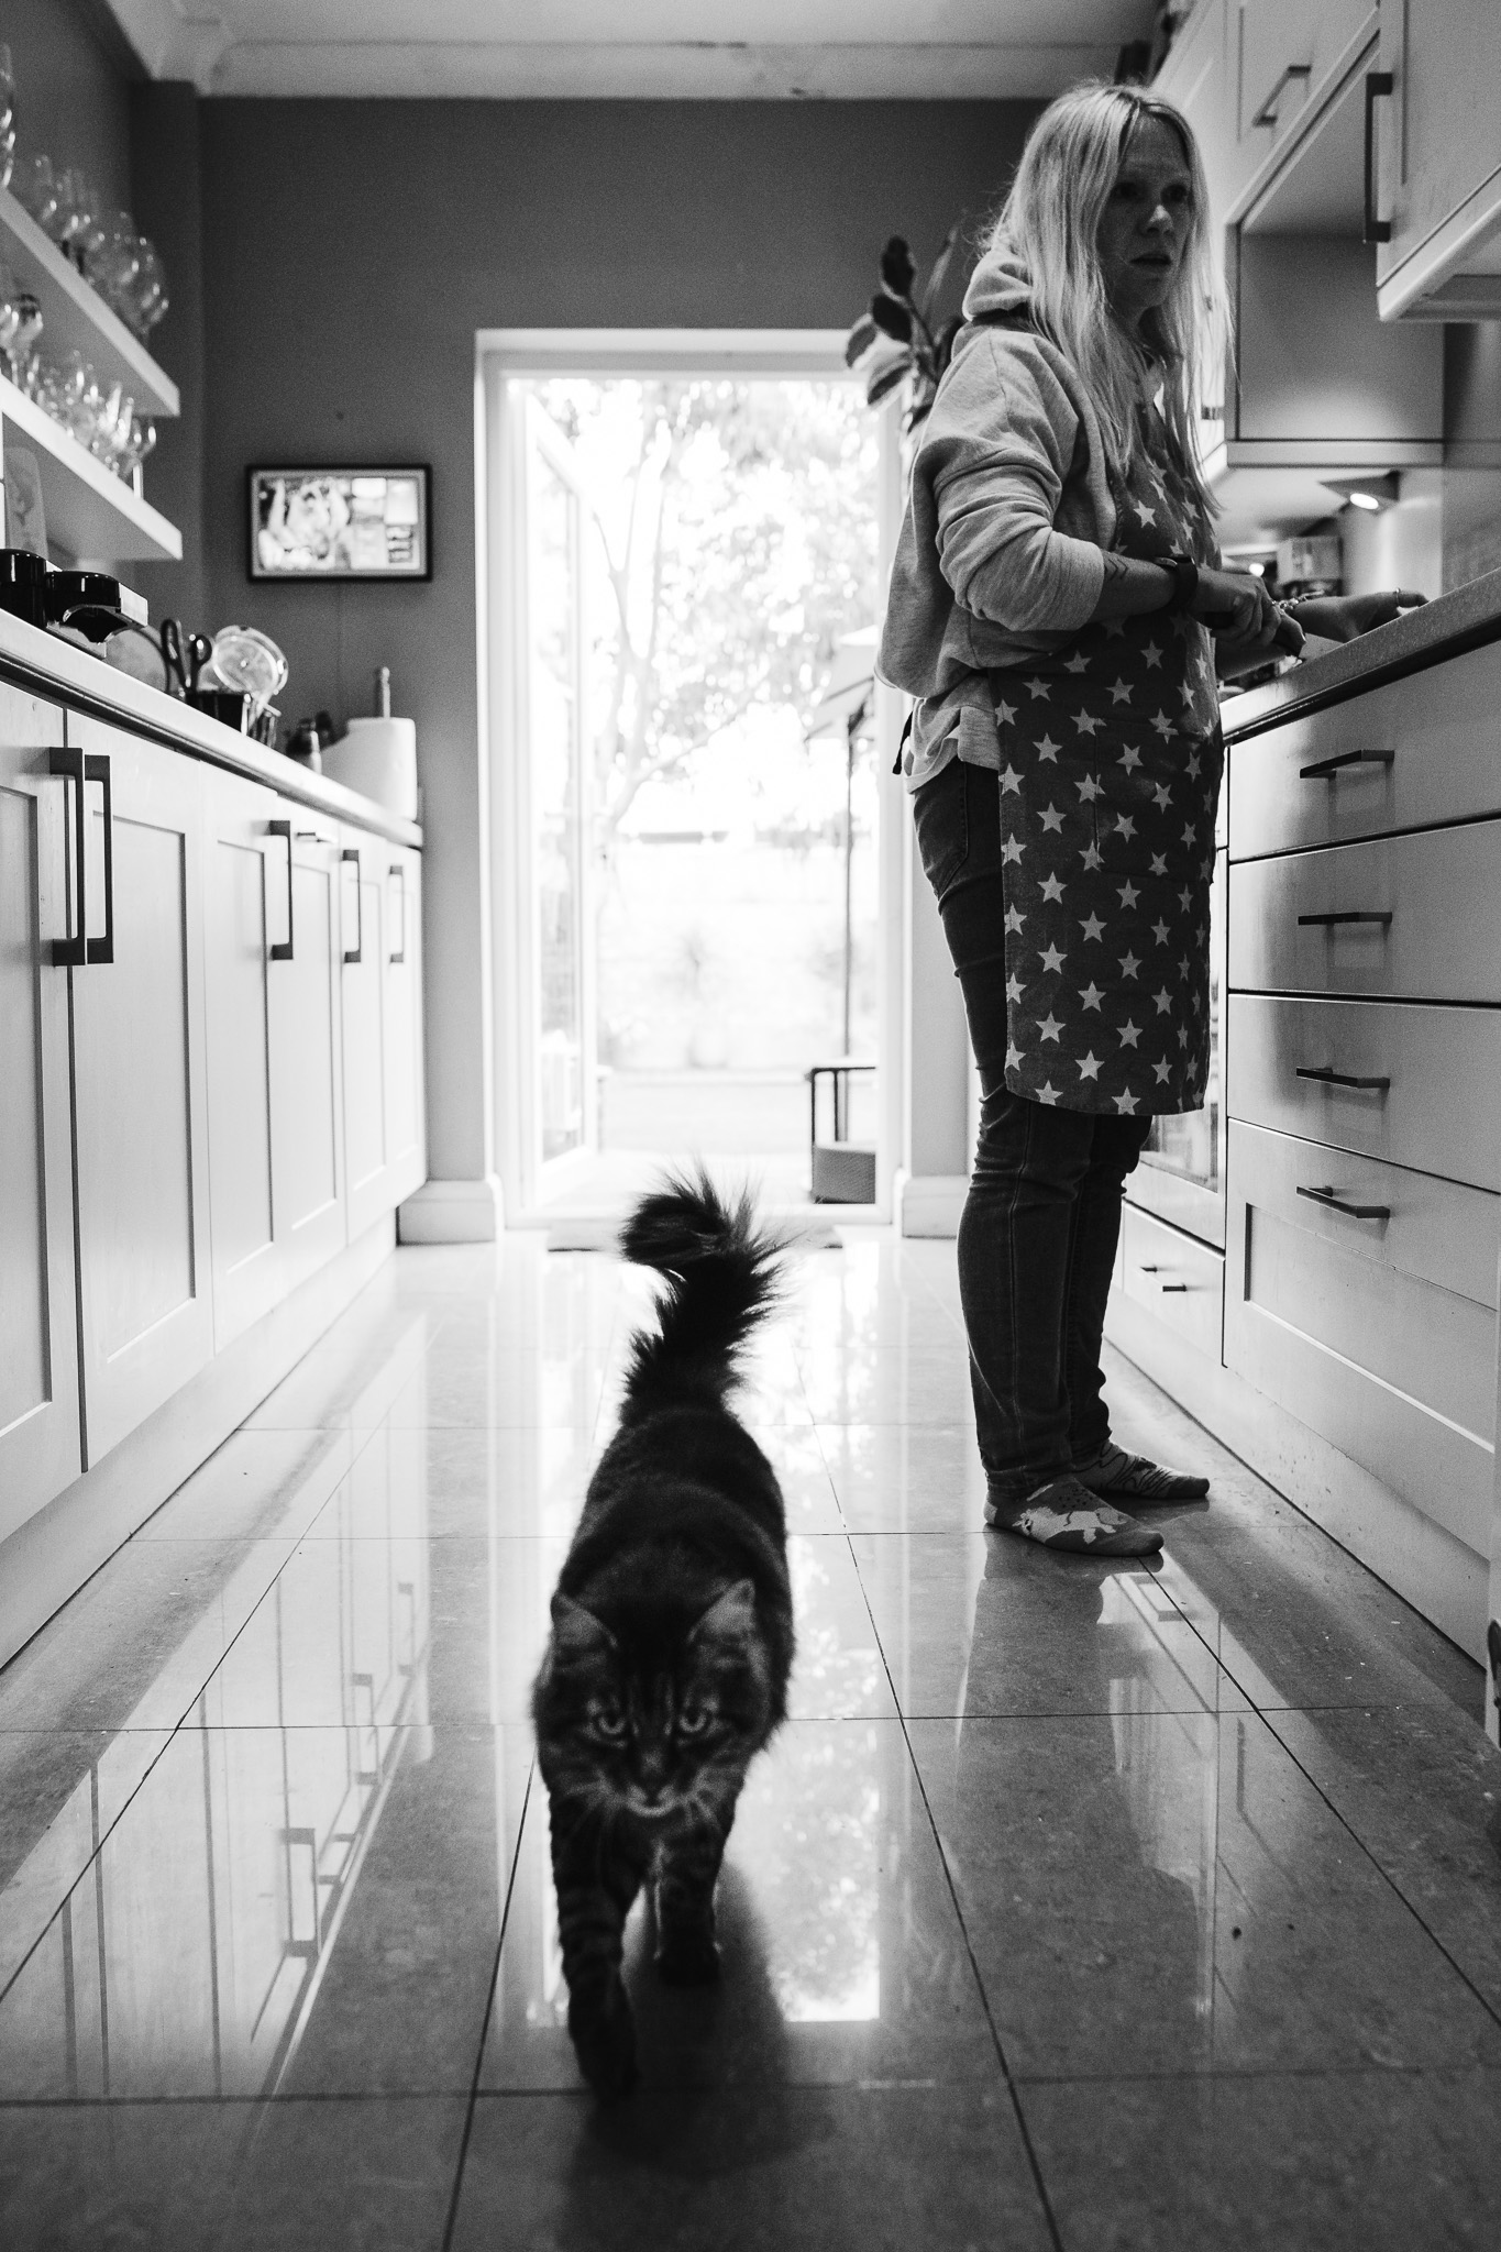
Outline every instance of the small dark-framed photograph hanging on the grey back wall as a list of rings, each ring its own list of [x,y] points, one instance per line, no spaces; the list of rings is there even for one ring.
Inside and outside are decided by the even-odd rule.
[[[252,579],[432,579],[432,471],[250,468]]]

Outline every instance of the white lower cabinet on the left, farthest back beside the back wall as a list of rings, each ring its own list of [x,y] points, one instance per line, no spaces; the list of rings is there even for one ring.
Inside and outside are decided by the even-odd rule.
[[[347,829],[340,842],[344,1167],[349,1241],[425,1178],[421,860]]]

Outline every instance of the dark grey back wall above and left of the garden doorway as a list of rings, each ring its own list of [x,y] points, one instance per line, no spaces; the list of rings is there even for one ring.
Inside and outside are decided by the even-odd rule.
[[[207,101],[205,624],[286,649],[284,709],[419,725],[430,1155],[484,1149],[473,367],[479,327],[842,327],[889,232],[932,257],[1033,104]],[[430,588],[250,588],[252,462],[423,459]]]

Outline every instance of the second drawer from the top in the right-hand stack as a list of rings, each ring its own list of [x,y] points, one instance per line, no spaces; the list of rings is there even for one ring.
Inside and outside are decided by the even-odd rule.
[[[1231,863],[1231,991],[1501,1002],[1496,896],[1501,822]]]

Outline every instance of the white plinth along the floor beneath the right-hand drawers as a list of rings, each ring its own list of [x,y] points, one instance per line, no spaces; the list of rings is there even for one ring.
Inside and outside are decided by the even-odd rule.
[[[1395,1588],[1440,1635],[1485,1664],[1483,1556],[1233,1369],[1184,1344],[1118,1288],[1109,1295],[1105,1335],[1294,1509]]]

